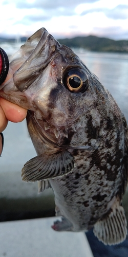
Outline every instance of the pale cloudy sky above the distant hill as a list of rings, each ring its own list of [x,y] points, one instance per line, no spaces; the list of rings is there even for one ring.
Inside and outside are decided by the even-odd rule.
[[[45,27],[56,39],[128,39],[128,0],[1,0],[0,11],[0,36],[28,37]]]

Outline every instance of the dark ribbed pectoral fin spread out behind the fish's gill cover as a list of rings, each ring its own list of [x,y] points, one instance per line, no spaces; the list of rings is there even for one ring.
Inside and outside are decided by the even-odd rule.
[[[22,177],[25,181],[33,182],[54,178],[68,174],[74,166],[74,157],[67,150],[53,154],[47,152],[27,161],[22,169]]]

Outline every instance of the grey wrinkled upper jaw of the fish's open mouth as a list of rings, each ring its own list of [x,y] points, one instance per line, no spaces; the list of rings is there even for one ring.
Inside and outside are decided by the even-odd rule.
[[[19,91],[24,92],[46,68],[57,45],[59,45],[58,41],[45,28],[41,28],[20,47],[20,51],[27,60],[13,75],[14,84]]]

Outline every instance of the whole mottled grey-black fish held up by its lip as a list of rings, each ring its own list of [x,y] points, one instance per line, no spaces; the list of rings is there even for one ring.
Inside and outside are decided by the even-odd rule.
[[[128,134],[109,91],[79,57],[41,28],[10,58],[13,78],[0,96],[28,109],[37,156],[24,181],[52,188],[55,231],[88,231],[114,245],[126,238],[122,197],[127,185]]]

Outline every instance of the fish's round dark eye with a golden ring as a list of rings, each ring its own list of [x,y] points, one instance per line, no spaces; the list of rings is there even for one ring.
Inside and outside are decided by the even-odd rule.
[[[87,75],[80,68],[71,68],[63,75],[63,84],[73,93],[86,91],[88,82]]]

